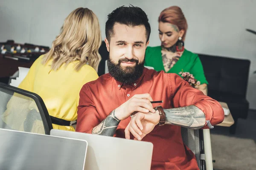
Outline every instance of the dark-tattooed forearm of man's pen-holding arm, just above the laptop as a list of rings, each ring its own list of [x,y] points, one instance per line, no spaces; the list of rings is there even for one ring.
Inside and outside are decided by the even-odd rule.
[[[116,128],[119,125],[119,122],[120,120],[116,118],[115,110],[113,110],[106,119],[93,128],[92,134],[113,136],[116,133]]]

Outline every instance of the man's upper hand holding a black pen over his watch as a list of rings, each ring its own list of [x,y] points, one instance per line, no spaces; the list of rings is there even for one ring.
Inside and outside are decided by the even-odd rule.
[[[155,110],[150,101],[153,101],[150,94],[135,94],[127,102],[116,108],[115,115],[119,120],[124,120],[134,112],[154,113]]]

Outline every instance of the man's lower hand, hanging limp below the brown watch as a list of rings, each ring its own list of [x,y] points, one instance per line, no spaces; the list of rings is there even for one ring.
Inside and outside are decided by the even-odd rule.
[[[130,139],[131,133],[134,136],[134,140],[140,141],[154,129],[159,121],[159,111],[155,111],[155,113],[136,113],[125,128],[125,138]]]

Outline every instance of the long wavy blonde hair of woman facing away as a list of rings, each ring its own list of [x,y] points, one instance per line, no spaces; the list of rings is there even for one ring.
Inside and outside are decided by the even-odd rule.
[[[58,70],[64,63],[73,61],[75,70],[83,65],[90,65],[98,71],[101,56],[101,32],[97,16],[88,8],[77,8],[65,19],[60,34],[52,42],[52,48],[44,55],[42,64],[52,60],[52,70]]]

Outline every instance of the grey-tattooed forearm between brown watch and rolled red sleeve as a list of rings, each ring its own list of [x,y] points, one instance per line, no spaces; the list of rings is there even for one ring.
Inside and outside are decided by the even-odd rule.
[[[166,124],[179,125],[190,129],[200,129],[206,123],[205,114],[194,105],[164,109],[166,113]]]

